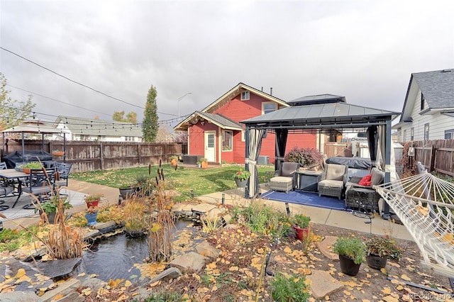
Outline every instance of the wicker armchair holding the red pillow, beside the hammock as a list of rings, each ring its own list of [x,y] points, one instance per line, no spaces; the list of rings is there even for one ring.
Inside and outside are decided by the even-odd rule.
[[[379,210],[378,201],[380,201],[381,196],[375,189],[372,189],[372,186],[383,183],[384,172],[373,168],[370,174],[370,186],[358,184],[361,177],[352,177],[345,184],[345,207],[360,208],[371,212]]]

